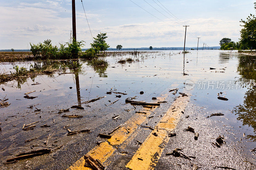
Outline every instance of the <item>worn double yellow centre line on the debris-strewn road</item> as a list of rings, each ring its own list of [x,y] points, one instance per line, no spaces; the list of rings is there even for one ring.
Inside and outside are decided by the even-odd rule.
[[[160,101],[163,101],[165,96],[158,98]],[[153,130],[152,133],[147,137],[147,139],[143,142],[137,152],[134,154],[130,162],[126,165],[127,168],[130,169],[152,169],[152,166],[156,165],[157,160],[160,158],[164,145],[167,144],[170,137],[168,137],[168,133],[171,132],[177,125],[181,111],[183,111],[188,103],[189,97],[181,97],[179,96],[177,100],[172,104],[172,106],[168,109],[166,114],[163,116],[161,121],[157,124],[157,129]],[[174,109],[173,109],[174,108]],[[150,115],[152,111],[156,109],[152,108],[144,108],[144,112],[146,112],[146,116]],[[124,125],[117,129],[112,137],[108,139],[108,141],[101,143],[99,146],[94,147],[87,154],[92,156],[95,159],[99,159],[101,162],[105,162],[113,153],[116,151],[115,145],[119,145],[120,148],[125,148],[129,141],[134,140],[134,138],[138,135],[136,133],[136,129],[139,128],[140,124],[146,121],[147,117],[145,114],[137,113],[132,116]],[[130,133],[126,129],[129,129]],[[157,136],[153,135],[156,132]],[[161,147],[160,147],[161,145]],[[157,158],[153,159],[153,156],[158,153]],[[139,159],[138,159],[139,158]],[[141,160],[142,159],[142,160]],[[84,157],[77,160],[72,166],[70,166],[69,170],[91,170],[91,168],[84,167],[85,160]],[[105,166],[106,163],[104,163]]]

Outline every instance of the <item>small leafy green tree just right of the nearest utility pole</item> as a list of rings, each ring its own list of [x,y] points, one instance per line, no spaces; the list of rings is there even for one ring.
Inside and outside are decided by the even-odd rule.
[[[108,48],[110,47],[107,43],[106,43],[106,38],[108,38],[107,33],[100,33],[97,35],[97,38],[94,38],[93,43],[91,43],[92,48],[94,48],[95,52],[99,52],[99,51],[106,51],[108,50]]]

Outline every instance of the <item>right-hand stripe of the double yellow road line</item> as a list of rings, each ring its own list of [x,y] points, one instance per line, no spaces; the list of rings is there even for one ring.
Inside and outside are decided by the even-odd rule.
[[[156,129],[152,131],[125,167],[133,170],[149,170],[156,166],[158,159],[162,155],[164,146],[170,139],[168,133],[177,126],[181,111],[183,111],[188,104],[188,99],[189,97],[179,97],[172,104],[162,120],[157,124],[158,132]],[[173,109],[174,106],[176,107],[175,109]],[[157,136],[153,135],[154,132],[157,133]]]

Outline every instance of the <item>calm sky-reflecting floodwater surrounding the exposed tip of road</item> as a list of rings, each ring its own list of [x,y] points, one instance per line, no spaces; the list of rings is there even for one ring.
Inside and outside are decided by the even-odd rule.
[[[255,163],[255,153],[250,151],[255,148],[256,142],[255,58],[240,55],[236,51],[190,52],[184,55],[180,51],[158,51],[140,53],[137,56],[120,56],[117,53],[104,58],[108,66],[92,66],[86,60],[2,63],[1,73],[14,71],[12,68],[15,65],[28,69],[31,65],[38,69],[51,65],[59,71],[0,85],[0,88],[5,89],[0,89],[1,99],[8,98],[7,101],[11,103],[8,107],[0,108],[1,162],[12,154],[45,147],[44,141],[49,134],[52,134],[49,144],[52,148],[78,140],[78,137],[66,136],[64,126],[69,125],[71,130],[97,130],[115,115],[131,116],[133,112],[130,110],[134,107],[125,105],[128,97],[137,96],[137,101],[151,102],[152,97],[161,96],[167,89],[181,88],[192,95],[190,102],[204,108],[205,117],[213,113],[224,114],[208,119],[217,126],[227,128],[227,133],[223,134],[225,140],[237,144],[248,160]],[[120,59],[129,57],[134,62],[117,63]],[[79,63],[81,67],[74,68],[74,63]],[[28,95],[37,98],[23,98],[24,93],[34,90],[36,92]],[[112,94],[106,94],[111,90]],[[140,91],[144,94],[140,94]],[[228,101],[217,99],[218,93],[219,96],[228,98]],[[171,92],[168,95],[170,99],[175,98]],[[106,97],[81,104],[102,96]],[[116,102],[111,104],[114,101]],[[31,105],[33,108],[28,108]],[[82,106],[84,110],[70,108],[73,105]],[[68,108],[69,112],[58,114],[60,109]],[[36,109],[41,111],[35,111]],[[69,119],[61,117],[63,114],[84,117]],[[24,124],[36,121],[39,122],[35,123],[33,130],[22,130]],[[40,127],[44,124],[51,127]],[[37,139],[24,142],[32,138]]]

